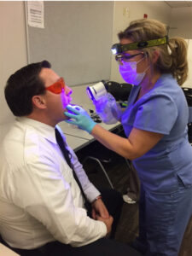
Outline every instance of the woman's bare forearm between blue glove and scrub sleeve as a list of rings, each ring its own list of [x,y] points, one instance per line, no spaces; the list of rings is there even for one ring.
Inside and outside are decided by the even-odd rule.
[[[105,130],[100,125],[94,126],[91,135],[105,147],[130,160],[146,154],[163,137],[160,133],[133,128],[130,136],[124,138]]]

